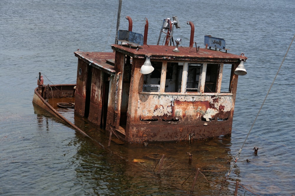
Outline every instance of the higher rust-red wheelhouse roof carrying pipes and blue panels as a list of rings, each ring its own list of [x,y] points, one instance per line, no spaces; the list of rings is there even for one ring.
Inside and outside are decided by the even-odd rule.
[[[112,49],[122,52],[133,58],[146,58],[150,56],[151,59],[173,59],[181,61],[215,61],[215,62],[239,62],[239,59],[246,60],[247,57],[242,55],[235,55],[219,50],[199,48],[189,48],[178,46],[180,52],[173,52],[176,46],[161,46],[161,45],[143,45],[138,47],[128,47],[127,45],[113,44]]]

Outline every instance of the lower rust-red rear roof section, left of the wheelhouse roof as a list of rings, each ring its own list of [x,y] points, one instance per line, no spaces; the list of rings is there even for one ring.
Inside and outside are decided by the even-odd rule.
[[[115,53],[114,52],[74,52],[75,56],[86,63],[91,63],[95,68],[98,68],[110,75],[114,75]]]

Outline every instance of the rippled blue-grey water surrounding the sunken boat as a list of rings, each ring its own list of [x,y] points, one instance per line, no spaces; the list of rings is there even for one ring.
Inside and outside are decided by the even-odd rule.
[[[239,77],[231,136],[192,144],[112,144],[111,153],[34,110],[32,98],[39,71],[47,77],[45,83],[75,83],[74,51],[111,51],[117,4],[1,0],[0,195],[190,195],[193,175],[188,177],[196,168],[209,180],[224,180],[227,162],[244,143],[294,36],[294,1],[123,0],[120,29],[128,29],[125,16],[130,16],[133,31],[143,33],[147,17],[148,43],[156,44],[163,19],[178,16],[181,29],[174,30],[174,37],[182,38],[181,45],[189,45],[186,21],[192,21],[199,46],[204,47],[204,35],[224,38],[230,53],[248,57],[248,74]],[[295,194],[294,44],[229,179],[258,195]],[[105,135],[91,124],[73,120],[106,144]],[[259,147],[258,155],[254,147]],[[191,165],[186,152],[193,154]],[[158,176],[153,169],[162,154],[166,158]],[[233,195],[233,183],[198,179],[194,195]],[[254,194],[241,188],[238,195]]]

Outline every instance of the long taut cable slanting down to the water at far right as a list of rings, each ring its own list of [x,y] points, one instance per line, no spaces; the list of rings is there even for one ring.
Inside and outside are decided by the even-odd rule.
[[[284,56],[284,58],[283,58],[283,61],[282,61],[281,65],[280,65],[280,67],[278,68],[278,71],[277,71],[275,77],[273,78],[273,82],[271,83],[271,86],[270,86],[270,88],[268,89],[268,92],[266,93],[266,96],[265,96],[265,98],[264,98],[264,100],[263,100],[263,103],[261,104],[260,109],[259,109],[259,111],[258,111],[258,113],[257,113],[257,115],[256,115],[256,117],[255,117],[255,119],[254,119],[254,121],[253,121],[253,123],[252,123],[252,126],[251,126],[251,128],[250,128],[250,130],[249,130],[249,132],[248,132],[248,135],[247,135],[247,137],[246,137],[246,139],[245,139],[245,141],[244,141],[242,147],[240,148],[239,152],[237,153],[237,155],[235,155],[234,163],[232,164],[232,166],[230,167],[229,172],[227,173],[228,176],[230,175],[230,172],[232,171],[232,168],[234,167],[235,163],[236,163],[237,160],[240,158],[241,151],[242,151],[242,149],[243,149],[243,147],[244,147],[244,145],[245,145],[245,143],[246,143],[246,140],[248,139],[248,136],[250,135],[250,132],[251,132],[251,130],[252,130],[252,128],[253,128],[253,126],[254,126],[254,124],[255,124],[257,118],[258,118],[258,115],[259,115],[259,113],[260,113],[260,111],[261,111],[261,109],[262,109],[262,107],[263,107],[263,105],[264,105],[264,103],[265,103],[265,101],[266,101],[266,98],[267,98],[269,92],[271,91],[271,88],[272,88],[272,86],[273,86],[273,83],[275,82],[276,77],[278,76],[278,73],[279,73],[279,71],[281,70],[281,67],[282,67],[282,65],[283,65],[283,62],[285,61],[285,58],[286,58],[286,56],[287,56],[287,54],[288,54],[288,52],[289,52],[289,50],[290,50],[290,48],[291,48],[291,45],[292,45],[292,43],[293,43],[293,41],[294,41],[294,38],[295,38],[295,34],[294,34],[293,39],[292,39],[292,41],[291,41],[291,43],[290,43],[290,45],[289,45],[288,50],[286,51],[286,54],[285,54],[285,56]]]

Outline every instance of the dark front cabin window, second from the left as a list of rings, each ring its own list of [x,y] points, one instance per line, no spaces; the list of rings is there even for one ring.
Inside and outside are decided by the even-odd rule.
[[[183,63],[167,63],[165,92],[178,92],[181,90]]]

